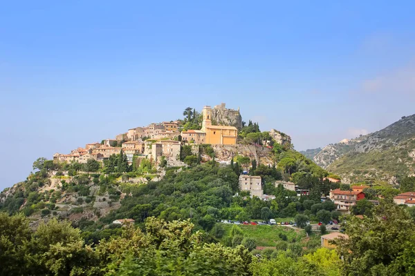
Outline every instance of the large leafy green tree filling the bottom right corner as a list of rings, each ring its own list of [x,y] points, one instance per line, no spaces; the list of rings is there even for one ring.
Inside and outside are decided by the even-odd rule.
[[[414,275],[415,224],[391,201],[380,201],[369,217],[347,218],[348,239],[335,240],[345,275]]]

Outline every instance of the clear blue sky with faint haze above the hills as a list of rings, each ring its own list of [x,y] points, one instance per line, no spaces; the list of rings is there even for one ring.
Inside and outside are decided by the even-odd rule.
[[[414,1],[0,3],[0,190],[187,106],[240,108],[297,150],[415,113]]]

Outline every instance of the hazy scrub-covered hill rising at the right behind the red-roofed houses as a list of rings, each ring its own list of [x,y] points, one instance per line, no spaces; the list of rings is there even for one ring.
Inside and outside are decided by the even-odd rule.
[[[415,173],[415,115],[356,139],[324,147],[313,161],[344,182],[382,179]]]

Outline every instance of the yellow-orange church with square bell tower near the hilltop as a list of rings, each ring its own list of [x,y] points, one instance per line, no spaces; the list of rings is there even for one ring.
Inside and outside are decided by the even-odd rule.
[[[183,141],[195,144],[236,145],[238,129],[234,126],[212,126],[212,108],[205,106],[202,110],[201,130],[182,131]]]

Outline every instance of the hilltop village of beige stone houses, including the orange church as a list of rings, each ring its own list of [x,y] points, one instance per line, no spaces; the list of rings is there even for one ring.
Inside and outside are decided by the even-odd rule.
[[[228,110],[225,108],[225,103],[215,106],[214,112],[216,114],[232,112],[239,115],[239,110]],[[150,159],[157,164],[161,157],[169,161],[179,160],[181,147],[184,144],[237,145],[238,128],[236,126],[212,124],[210,106],[203,108],[202,116],[201,129],[183,128],[183,121],[179,120],[153,123],[144,127],[130,128],[127,132],[116,135],[114,139],[86,144],[84,148],[76,148],[69,154],[55,153],[53,159],[60,162],[76,161],[85,164],[88,159],[102,162],[109,159],[111,155],[122,153],[127,156],[129,164],[133,162],[133,156]]]

